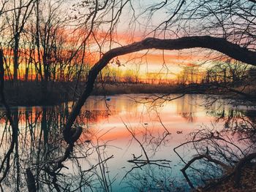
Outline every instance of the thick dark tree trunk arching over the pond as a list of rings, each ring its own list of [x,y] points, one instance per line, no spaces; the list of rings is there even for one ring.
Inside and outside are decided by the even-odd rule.
[[[124,47],[117,47],[109,50],[105,53],[99,61],[94,64],[89,72],[89,77],[86,82],[86,89],[83,91],[82,95],[78,99],[77,104],[73,108],[69,118],[67,120],[66,126],[64,127],[64,139],[67,143],[72,143],[70,136],[70,130],[72,124],[77,118],[81,107],[85,103],[86,99],[91,94],[94,88],[94,82],[97,78],[99,72],[108,64],[108,62],[118,55],[125,55],[128,53],[135,53],[140,50],[148,49],[158,49],[158,50],[183,50],[195,47],[202,47],[211,50],[217,50],[220,53],[230,56],[238,61],[242,61],[246,64],[251,64],[256,66],[256,53],[247,50],[244,47],[228,42],[226,39],[209,37],[209,36],[195,36],[195,37],[181,37],[178,39],[156,39],[147,38],[140,42],[134,42],[130,45]]]

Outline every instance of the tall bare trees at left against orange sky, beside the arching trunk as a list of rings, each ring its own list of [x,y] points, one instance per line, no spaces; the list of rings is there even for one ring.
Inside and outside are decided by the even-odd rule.
[[[0,12],[0,48],[5,80],[48,82],[86,78],[91,55],[86,33],[72,27],[65,1],[4,1]]]

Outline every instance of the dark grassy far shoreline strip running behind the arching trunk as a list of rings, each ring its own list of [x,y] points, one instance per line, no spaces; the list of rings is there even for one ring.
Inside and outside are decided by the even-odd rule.
[[[5,85],[5,95],[10,107],[36,107],[53,106],[67,101],[74,101],[83,92],[85,82],[80,82],[75,91],[74,82],[50,82],[48,91],[42,94],[42,87],[38,82],[19,82],[17,86],[12,86],[10,82]],[[115,84],[97,83],[91,96],[113,96],[120,94],[209,94],[223,95],[219,91],[211,93],[209,85],[168,85],[168,84],[144,84],[144,83],[124,83]],[[225,95],[227,96],[227,95]],[[239,99],[239,98],[238,98]]]

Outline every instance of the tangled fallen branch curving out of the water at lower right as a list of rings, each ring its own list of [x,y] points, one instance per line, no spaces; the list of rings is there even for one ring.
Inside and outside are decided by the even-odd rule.
[[[198,171],[197,169],[192,167],[192,164],[195,161],[205,160],[206,162],[211,162],[212,164],[214,164],[214,166],[219,166],[222,172],[224,172],[224,174],[222,174],[222,177],[211,180],[211,183],[207,184],[206,187],[203,188],[204,190],[207,190],[208,188],[213,188],[219,185],[220,183],[225,182],[231,177],[233,179],[233,187],[240,188],[241,172],[243,171],[244,166],[246,166],[253,159],[256,158],[256,153],[254,152],[255,150],[252,150],[250,153],[245,153],[246,150],[242,150],[241,148],[239,148],[235,142],[232,142],[232,140],[228,139],[227,135],[223,136],[222,133],[219,133],[218,131],[215,131],[215,132],[212,132],[212,131],[205,132],[205,130],[197,131],[195,132],[191,140],[184,142],[181,145],[178,145],[178,147],[188,145],[188,144],[193,145],[193,147],[197,151],[197,155],[195,155],[192,159],[190,159],[187,162],[184,161],[183,158],[181,158],[181,155],[178,155],[178,156],[181,158],[181,161],[183,161],[185,164],[184,168],[181,169],[181,172],[184,174],[184,177],[186,178],[189,186],[193,189],[195,189],[195,186],[193,185],[192,181],[189,179],[189,176],[186,170],[191,168],[191,169],[194,169],[195,171]],[[211,151],[210,151],[208,147],[203,147],[203,146],[208,146],[208,147],[214,146],[215,148],[211,148]],[[177,154],[178,152],[176,150],[178,149],[178,147],[174,148],[174,151]],[[206,150],[203,150],[205,148]],[[237,150],[237,152],[241,154],[234,155],[233,152],[236,151],[235,149]],[[242,158],[241,158],[241,155],[243,156]],[[235,160],[234,158],[237,158],[237,160]],[[206,172],[209,172],[209,170],[206,169],[203,172],[206,173]]]

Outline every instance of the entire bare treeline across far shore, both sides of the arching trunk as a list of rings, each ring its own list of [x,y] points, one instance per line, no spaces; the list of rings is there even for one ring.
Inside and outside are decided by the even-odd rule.
[[[23,90],[26,88],[26,85],[20,86],[23,82],[37,82],[42,99],[48,96],[49,87],[51,92],[56,89],[53,82],[72,82],[69,85],[74,89],[78,88],[78,82],[86,81],[91,64],[104,53],[104,49],[109,50],[114,42],[113,29],[118,23],[118,17],[109,20],[108,6],[113,5],[107,6],[104,2],[1,2],[0,49],[4,53],[7,85]],[[101,12],[103,9],[106,14]],[[106,23],[110,24],[109,30],[103,30]],[[113,64],[121,65],[118,59],[113,60]],[[110,67],[101,72],[98,82],[218,84],[233,88],[252,85],[255,82],[255,68],[239,62],[234,64],[232,61],[231,64],[231,61],[215,61],[207,69],[197,65],[186,66],[176,78],[173,77],[174,80],[168,74],[148,73],[144,76],[141,77],[139,67],[125,71]],[[58,88],[59,85],[61,84],[57,84]],[[10,89],[10,93],[18,95],[20,90],[13,93]]]

